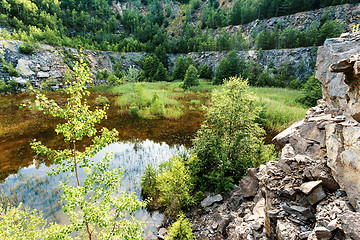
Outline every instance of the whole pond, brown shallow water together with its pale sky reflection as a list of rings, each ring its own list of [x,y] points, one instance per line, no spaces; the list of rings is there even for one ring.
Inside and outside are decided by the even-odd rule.
[[[66,97],[54,92],[46,95],[59,104]],[[97,95],[91,93],[88,99],[90,105],[95,105]],[[186,152],[191,147],[191,139],[203,122],[204,115],[199,109],[185,108],[185,114],[177,120],[134,119],[111,104],[118,95],[101,95],[110,100],[108,118],[101,122],[101,126],[116,128],[119,131],[119,142],[99,152],[94,161],[101,159],[108,151],[113,152],[111,168],[125,169],[119,192],[135,192],[140,198],[140,177],[148,163],[158,165],[174,154]],[[52,163],[35,156],[29,142],[36,138],[54,149],[67,146],[54,131],[59,119],[36,110],[19,109],[22,103],[33,98],[27,93],[0,96],[0,204],[17,205],[23,202],[26,207],[41,210],[48,221],[66,223],[58,188],[59,181],[65,179],[65,176],[47,176]],[[187,99],[183,100],[186,102]],[[89,139],[85,139],[84,145],[87,143]],[[147,224],[145,239],[156,235],[156,228],[163,221],[162,214],[142,209],[135,215]]]

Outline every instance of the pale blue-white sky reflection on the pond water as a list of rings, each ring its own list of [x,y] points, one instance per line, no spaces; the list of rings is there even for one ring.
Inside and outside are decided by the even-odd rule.
[[[148,163],[159,165],[171,158],[174,154],[183,153],[183,145],[169,146],[166,143],[155,143],[150,140],[142,142],[113,143],[100,151],[94,161],[102,159],[106,152],[113,152],[114,159],[110,168],[123,168],[121,185],[118,193],[123,191],[134,192],[140,197],[140,177]],[[54,167],[54,165],[52,166]],[[59,181],[65,175],[47,176],[50,168],[34,160],[34,163],[19,170],[17,174],[10,175],[0,185],[2,203],[10,202],[17,205],[23,202],[24,206],[41,210],[48,221],[66,223],[62,213],[61,192],[58,188]],[[80,178],[84,179],[84,173]],[[135,216],[146,222],[145,239],[151,239],[156,234],[156,228],[161,224],[163,215],[159,212],[149,213],[146,209],[136,212]]]

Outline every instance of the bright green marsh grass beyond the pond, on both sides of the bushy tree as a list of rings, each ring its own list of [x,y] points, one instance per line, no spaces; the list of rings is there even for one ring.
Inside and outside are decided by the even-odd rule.
[[[184,98],[188,94],[194,95],[190,100],[190,110],[198,109],[201,102],[198,97],[201,95],[210,99],[211,91],[219,88],[219,85],[212,85],[205,79],[200,79],[200,86],[191,87],[188,90],[181,88],[181,81],[174,82],[141,82],[143,98],[140,105],[143,105],[141,112],[144,118],[151,118],[148,107],[152,96],[157,93],[160,101],[165,106],[165,118],[177,119],[184,114]],[[128,112],[133,103],[136,83],[126,83],[119,86],[94,87],[93,91],[108,92],[117,94],[115,105],[121,112]],[[259,102],[263,107],[260,114],[260,123],[267,130],[281,132],[292,123],[304,118],[307,107],[296,102],[296,98],[301,95],[301,91],[285,88],[270,87],[250,87],[250,91],[259,97]]]

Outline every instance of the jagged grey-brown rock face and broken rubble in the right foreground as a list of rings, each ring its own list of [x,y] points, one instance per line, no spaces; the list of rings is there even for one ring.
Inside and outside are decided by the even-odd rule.
[[[192,211],[196,239],[360,239],[359,37],[319,48],[324,99],[273,139],[277,161]]]

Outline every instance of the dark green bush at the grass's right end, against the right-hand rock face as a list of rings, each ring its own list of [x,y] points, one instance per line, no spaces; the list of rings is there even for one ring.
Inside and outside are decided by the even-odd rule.
[[[321,83],[316,80],[315,75],[309,77],[309,80],[304,83],[302,89],[302,96],[296,101],[308,107],[314,107],[317,100],[322,98]]]

